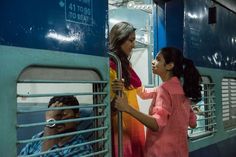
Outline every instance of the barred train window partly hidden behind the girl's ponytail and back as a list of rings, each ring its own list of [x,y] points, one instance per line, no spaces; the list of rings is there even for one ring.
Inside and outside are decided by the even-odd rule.
[[[202,101],[193,104],[199,108],[197,127],[188,131],[189,138],[192,140],[212,135],[216,131],[214,83],[209,77],[203,76],[201,86]]]

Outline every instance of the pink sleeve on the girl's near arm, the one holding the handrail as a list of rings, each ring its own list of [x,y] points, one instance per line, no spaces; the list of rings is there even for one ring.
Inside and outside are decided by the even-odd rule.
[[[162,129],[168,123],[171,115],[171,98],[166,90],[159,88],[155,100],[156,101],[154,107],[152,108],[151,116],[156,119],[159,129]]]

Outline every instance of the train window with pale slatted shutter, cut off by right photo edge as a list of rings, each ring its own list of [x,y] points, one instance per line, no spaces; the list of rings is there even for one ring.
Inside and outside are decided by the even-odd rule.
[[[223,123],[230,130],[236,127],[236,79],[223,78],[221,85]]]

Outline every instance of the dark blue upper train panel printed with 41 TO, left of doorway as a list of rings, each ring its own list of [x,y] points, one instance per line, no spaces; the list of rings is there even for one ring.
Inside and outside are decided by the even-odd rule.
[[[2,0],[0,45],[107,56],[107,0]]]

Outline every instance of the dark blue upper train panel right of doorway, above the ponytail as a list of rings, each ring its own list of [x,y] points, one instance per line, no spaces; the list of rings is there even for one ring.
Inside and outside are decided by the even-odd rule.
[[[216,24],[208,24],[208,8],[217,9]],[[236,14],[206,0],[186,0],[184,52],[201,67],[236,70]]]

